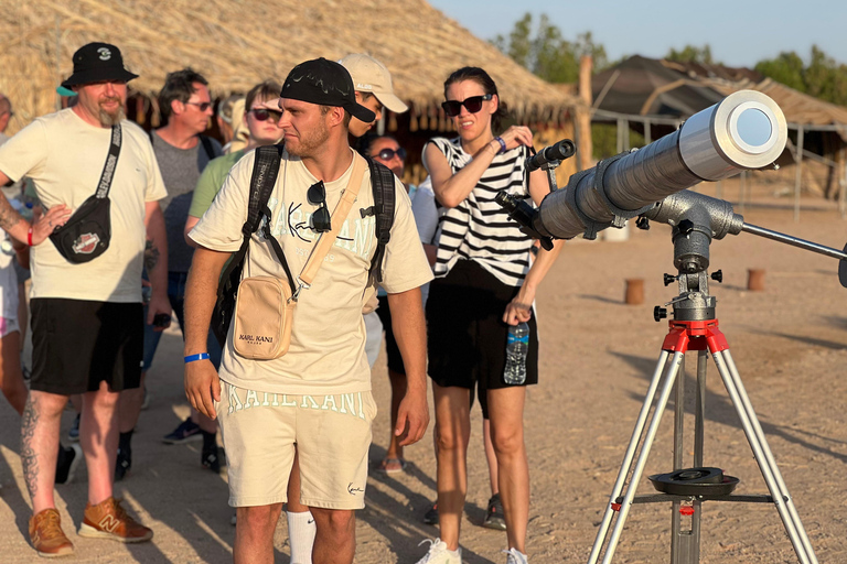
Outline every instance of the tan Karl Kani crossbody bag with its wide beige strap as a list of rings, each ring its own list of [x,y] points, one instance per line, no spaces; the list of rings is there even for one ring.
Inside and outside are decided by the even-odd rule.
[[[312,249],[303,271],[298,276],[299,286],[297,290],[293,289],[290,279],[248,276],[242,280],[235,302],[235,314],[233,315],[235,323],[233,344],[238,356],[254,360],[271,360],[288,352],[288,347],[291,344],[294,307],[300,292],[312,285],[324,257],[335,242],[344,219],[358,195],[366,166],[365,160],[358,153],[354,153],[350,183],[332,213],[332,218],[337,219],[330,231],[321,235]],[[274,247],[278,257],[285,261],[279,242],[269,232],[268,236],[271,245],[276,243]],[[249,253],[249,249],[247,252]],[[247,265],[249,268],[249,258]],[[287,264],[286,271],[288,271]]]

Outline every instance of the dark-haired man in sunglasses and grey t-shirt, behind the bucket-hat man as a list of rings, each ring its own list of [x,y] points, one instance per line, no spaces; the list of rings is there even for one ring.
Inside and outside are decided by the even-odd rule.
[[[171,302],[180,328],[184,329],[182,302],[185,280],[191,267],[193,249],[185,243],[183,227],[189,215],[191,197],[203,169],[210,161],[223,154],[221,144],[202,135],[212,117],[212,98],[208,82],[191,68],[168,73],[159,93],[159,108],[165,126],[150,132],[156,160],[164,178],[168,195],[162,199],[164,226],[168,231],[168,299]],[[151,252],[144,256],[146,265],[157,262],[159,257]],[[115,479],[122,479],[132,466],[132,433],[138,422],[144,399],[144,376],[150,369],[161,338],[161,328],[170,319],[160,319],[158,326],[144,327],[144,366],[141,388],[126,392],[120,405],[120,442],[115,466]],[[159,330],[156,330],[159,329]],[[210,352],[219,361],[221,350],[210,337]],[[214,421],[197,413],[180,423],[165,435],[168,444],[202,441],[201,464],[213,471],[219,471],[221,460],[216,442],[217,427]]]

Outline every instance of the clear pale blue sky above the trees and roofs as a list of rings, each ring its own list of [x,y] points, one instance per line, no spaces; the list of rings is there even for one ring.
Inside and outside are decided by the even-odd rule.
[[[783,51],[807,63],[813,44],[847,63],[845,0],[428,1],[483,40],[507,36],[526,12],[534,22],[546,13],[567,40],[590,31],[610,61],[661,58],[672,47],[708,43],[712,58],[729,66],[752,67]]]

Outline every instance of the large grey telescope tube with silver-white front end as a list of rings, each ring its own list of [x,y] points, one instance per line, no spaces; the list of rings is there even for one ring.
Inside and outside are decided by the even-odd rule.
[[[544,198],[534,227],[557,239],[587,232],[590,221],[609,227],[615,216],[626,218],[701,181],[768,166],[786,140],[776,102],[754,90],[737,91],[643,149],[573,175],[566,189]]]

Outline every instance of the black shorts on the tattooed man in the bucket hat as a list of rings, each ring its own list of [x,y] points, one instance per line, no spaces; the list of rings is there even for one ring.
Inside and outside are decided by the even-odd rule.
[[[138,388],[144,349],[140,303],[36,297],[31,388],[61,395]]]

